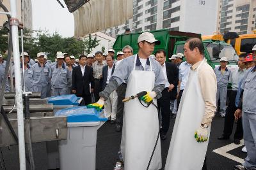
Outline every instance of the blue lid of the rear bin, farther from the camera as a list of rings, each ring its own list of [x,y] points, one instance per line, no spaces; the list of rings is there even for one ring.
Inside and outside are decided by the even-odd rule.
[[[53,105],[76,105],[78,106],[82,101],[82,97],[77,97],[74,94],[52,96],[48,98],[48,103]]]

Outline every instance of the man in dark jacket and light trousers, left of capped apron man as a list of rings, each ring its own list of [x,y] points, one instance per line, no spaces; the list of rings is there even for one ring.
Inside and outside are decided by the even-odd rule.
[[[109,79],[111,78],[112,74],[115,71],[115,64],[114,64],[114,57],[111,55],[108,55],[106,57],[107,66],[104,66],[102,68],[102,90],[105,89],[106,85],[109,83]],[[107,117],[111,120],[111,124],[115,124],[116,121],[116,108],[117,108],[117,93],[116,90],[114,90],[110,96],[109,99],[104,103],[104,108]]]

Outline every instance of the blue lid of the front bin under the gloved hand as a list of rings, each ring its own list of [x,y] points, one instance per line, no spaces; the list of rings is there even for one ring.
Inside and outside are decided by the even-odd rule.
[[[76,106],[66,108],[55,113],[56,117],[67,117],[67,122],[99,122],[107,121],[103,111],[97,111],[95,108],[87,108],[86,106]]]

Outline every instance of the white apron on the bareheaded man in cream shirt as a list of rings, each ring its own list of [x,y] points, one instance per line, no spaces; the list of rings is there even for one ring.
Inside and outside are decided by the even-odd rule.
[[[198,69],[204,62],[189,73],[172,132],[165,170],[201,170],[203,167],[209,139],[198,143],[195,131],[200,127],[205,110],[198,80]],[[209,135],[211,127],[208,129]]]

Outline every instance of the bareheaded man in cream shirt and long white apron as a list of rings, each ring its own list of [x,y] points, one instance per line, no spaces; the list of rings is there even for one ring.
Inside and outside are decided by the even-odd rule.
[[[204,60],[202,41],[188,39],[184,55],[191,71],[175,120],[165,170],[202,169],[216,110],[216,76]]]

